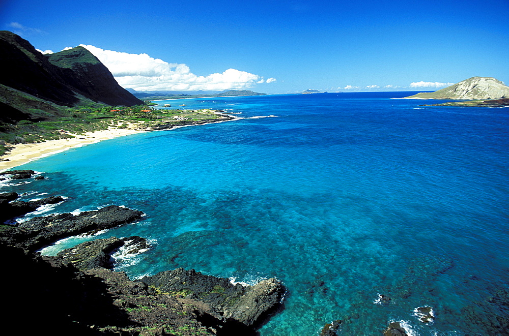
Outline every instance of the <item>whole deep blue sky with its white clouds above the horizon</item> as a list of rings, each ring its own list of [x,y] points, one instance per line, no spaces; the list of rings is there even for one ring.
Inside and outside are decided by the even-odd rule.
[[[42,51],[90,46],[119,83],[145,91],[507,84],[507,17],[507,0],[0,2],[2,29]]]

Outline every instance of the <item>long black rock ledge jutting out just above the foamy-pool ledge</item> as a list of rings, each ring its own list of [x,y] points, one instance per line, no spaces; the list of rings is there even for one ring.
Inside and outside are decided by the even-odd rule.
[[[37,250],[56,240],[81,233],[95,233],[138,221],[143,212],[117,205],[110,205],[95,211],[81,212],[77,216],[61,213],[47,217],[36,217],[18,227],[26,230],[24,244],[30,250]]]

